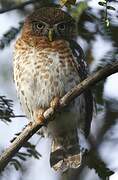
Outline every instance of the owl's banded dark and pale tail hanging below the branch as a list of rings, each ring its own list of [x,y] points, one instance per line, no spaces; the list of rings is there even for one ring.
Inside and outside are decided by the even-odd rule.
[[[71,168],[78,168],[81,165],[81,159],[79,144],[61,148],[53,141],[50,165],[55,171],[65,172]]]

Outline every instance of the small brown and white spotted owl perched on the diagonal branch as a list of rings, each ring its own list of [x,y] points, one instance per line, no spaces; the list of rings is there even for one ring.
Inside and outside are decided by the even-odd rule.
[[[76,36],[75,20],[57,6],[40,7],[26,18],[15,44],[13,69],[17,94],[30,121],[40,121],[47,108],[55,108],[87,77]],[[80,133],[88,137],[92,112],[92,93],[86,90],[41,129],[52,139],[50,165],[55,170],[81,165]]]

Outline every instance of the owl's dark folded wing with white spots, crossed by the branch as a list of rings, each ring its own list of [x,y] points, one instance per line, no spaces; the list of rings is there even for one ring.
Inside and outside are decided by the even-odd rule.
[[[74,57],[76,57],[77,59],[75,65],[82,81],[88,76],[88,67],[84,60],[85,59],[84,52],[82,48],[79,46],[79,44],[77,44],[77,42],[74,40],[70,41],[70,47],[71,47]],[[84,133],[85,133],[85,136],[87,137],[90,132],[90,126],[91,126],[91,121],[92,121],[92,116],[93,116],[93,96],[90,89],[87,89],[86,91],[84,91],[84,97],[85,97],[85,112],[86,112]]]

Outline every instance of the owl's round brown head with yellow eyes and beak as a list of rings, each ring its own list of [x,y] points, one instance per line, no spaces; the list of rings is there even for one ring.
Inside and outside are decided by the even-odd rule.
[[[49,41],[71,40],[76,35],[75,20],[59,7],[42,7],[28,16],[24,29],[33,36],[45,36]]]

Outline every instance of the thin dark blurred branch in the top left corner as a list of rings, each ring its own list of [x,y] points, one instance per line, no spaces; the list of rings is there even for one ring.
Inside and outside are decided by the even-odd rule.
[[[18,5],[14,5],[14,6],[10,7],[9,9],[8,8],[0,9],[0,14],[6,13],[8,11],[16,10],[16,9],[22,9],[25,6],[27,6],[29,4],[36,3],[36,2],[38,2],[38,1],[37,0],[29,0],[29,1],[26,1],[26,2],[23,2],[23,3],[20,3]]]

